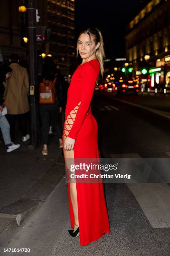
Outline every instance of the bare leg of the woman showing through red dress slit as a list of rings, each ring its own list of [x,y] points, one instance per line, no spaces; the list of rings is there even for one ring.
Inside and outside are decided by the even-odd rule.
[[[64,142],[65,139],[67,137],[63,136],[63,146],[64,146]],[[73,150],[64,150],[63,148],[63,152],[64,152],[64,157],[65,157],[65,161],[67,164],[67,169],[70,170],[70,161],[67,161],[67,158],[72,158],[74,159],[74,149]],[[71,202],[72,202],[72,210],[74,213],[74,220],[75,220],[75,225],[74,225],[74,230],[73,232],[78,228],[79,226],[79,222],[78,222],[78,205],[77,205],[77,189],[76,189],[76,183],[72,183],[70,182],[70,198],[71,198]]]

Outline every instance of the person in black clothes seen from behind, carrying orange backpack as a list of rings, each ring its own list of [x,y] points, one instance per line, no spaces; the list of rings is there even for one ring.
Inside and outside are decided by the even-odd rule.
[[[59,140],[59,146],[62,148],[62,131],[60,126],[60,113],[62,112],[62,88],[60,83],[60,77],[57,75],[57,69],[51,57],[46,57],[43,65],[43,75],[42,79],[45,81],[54,81],[55,77],[57,78],[55,82],[57,100],[55,104],[45,105],[40,104],[40,118],[41,118],[41,133],[42,133],[42,154],[48,154],[48,144],[49,144],[49,127],[50,121],[55,128],[56,136]]]

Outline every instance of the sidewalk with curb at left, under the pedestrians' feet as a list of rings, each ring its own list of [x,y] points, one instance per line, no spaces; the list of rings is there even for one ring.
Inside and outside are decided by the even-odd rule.
[[[50,138],[47,156],[42,156],[41,147],[23,143],[20,132],[17,138],[21,146],[10,153],[0,143],[0,247],[7,246],[65,174],[56,137]]]

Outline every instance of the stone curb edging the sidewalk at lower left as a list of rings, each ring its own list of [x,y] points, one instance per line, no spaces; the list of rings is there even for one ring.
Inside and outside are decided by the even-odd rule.
[[[41,207],[64,175],[65,165],[53,164],[20,200],[0,209],[0,247],[7,247],[7,244],[33,213]]]

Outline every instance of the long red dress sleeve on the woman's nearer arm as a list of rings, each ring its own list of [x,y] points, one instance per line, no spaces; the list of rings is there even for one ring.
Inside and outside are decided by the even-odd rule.
[[[82,88],[80,88],[81,104],[78,108],[76,118],[68,135],[70,138],[73,139],[76,139],[77,133],[83,123],[83,120],[85,119],[85,116],[87,115],[87,110],[90,106],[92,95],[95,89],[95,83],[98,77],[98,69],[96,69],[96,67],[94,67],[91,63],[87,62],[85,64],[82,64],[82,67],[80,68],[80,79],[82,80]],[[76,97],[76,91],[74,91],[74,95],[72,95],[72,97]]]

